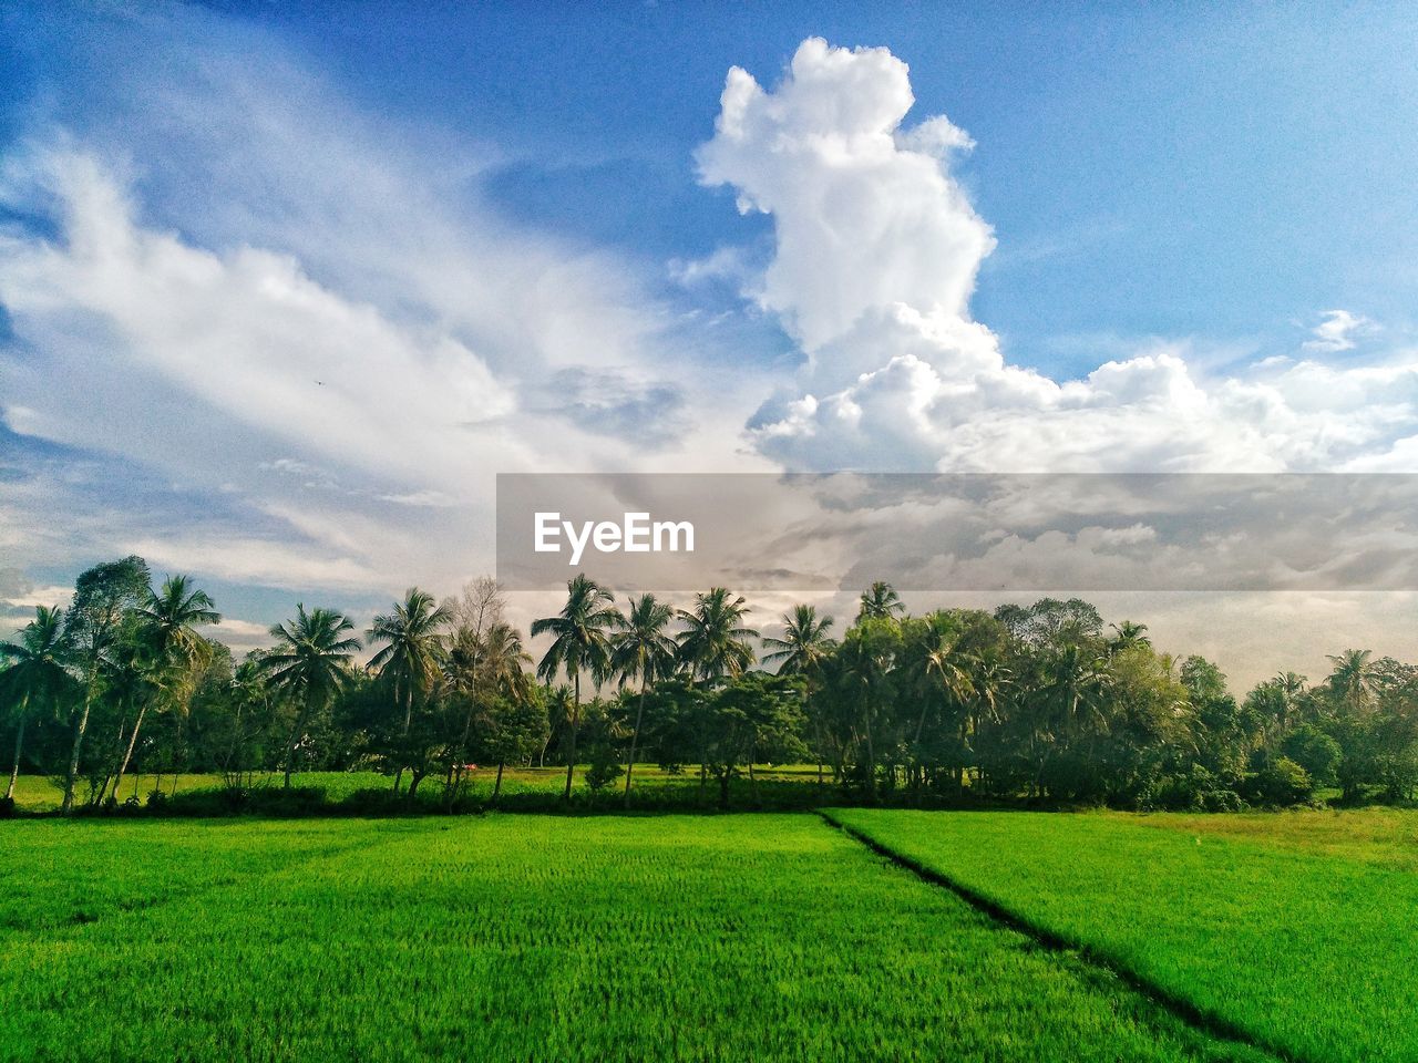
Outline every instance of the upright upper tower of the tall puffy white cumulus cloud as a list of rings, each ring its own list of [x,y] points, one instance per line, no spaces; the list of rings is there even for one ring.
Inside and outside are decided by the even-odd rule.
[[[964,313],[994,247],[942,159],[963,133],[936,119],[903,133],[912,102],[906,64],[885,48],[811,38],[773,92],[729,71],[700,176],[773,215],[760,300],[810,351],[893,302]]]

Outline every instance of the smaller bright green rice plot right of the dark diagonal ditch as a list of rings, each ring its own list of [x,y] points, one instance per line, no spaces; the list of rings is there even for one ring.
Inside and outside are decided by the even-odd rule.
[[[1408,815],[831,816],[1279,1053],[1418,1059]]]

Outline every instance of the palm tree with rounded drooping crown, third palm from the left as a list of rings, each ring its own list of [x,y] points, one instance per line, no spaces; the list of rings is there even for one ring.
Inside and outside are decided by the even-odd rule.
[[[285,754],[285,788],[291,788],[295,748],[311,716],[325,709],[349,679],[352,655],[359,639],[343,638],[354,631],[349,617],[335,609],[305,611],[295,607],[295,619],[277,624],[271,635],[277,645],[261,660],[268,685],[298,706]]]

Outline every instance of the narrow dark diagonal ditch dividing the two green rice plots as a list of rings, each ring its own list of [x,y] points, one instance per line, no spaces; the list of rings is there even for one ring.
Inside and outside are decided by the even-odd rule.
[[[1000,923],[1001,926],[1022,934],[1024,937],[1029,938],[1039,947],[1046,948],[1051,952],[1069,952],[1072,955],[1079,957],[1083,962],[1089,964],[1090,967],[1107,972],[1109,975],[1117,978],[1120,982],[1123,982],[1134,992],[1151,1001],[1163,1011],[1168,1012],[1174,1018],[1200,1030],[1201,1033],[1205,1033],[1210,1037],[1241,1045],[1255,1052],[1262,1052],[1268,1056],[1273,1056],[1275,1059],[1282,1060],[1282,1063],[1324,1063],[1323,1060],[1310,1060],[1309,1057],[1302,1056],[1293,1052],[1292,1049],[1285,1047],[1283,1045],[1272,1045],[1255,1036],[1251,1030],[1238,1026],[1229,1019],[1208,1012],[1204,1008],[1198,1008],[1193,1001],[1188,1001],[1185,996],[1181,996],[1167,989],[1166,986],[1153,982],[1150,978],[1137,974],[1132,968],[1098,951],[1088,943],[1075,941],[1064,934],[1059,934],[1055,930],[1051,930],[1039,923],[1035,923],[1018,914],[1017,911],[1007,909],[997,900],[980,893],[978,890],[974,890],[970,886],[957,882],[949,874],[944,874],[943,872],[939,872],[934,867],[927,867],[915,857],[896,852],[895,849],[883,845],[882,842],[878,842],[875,838],[866,835],[865,832],[856,829],[855,826],[844,823],[837,816],[834,816],[828,809],[820,808],[817,809],[817,815],[828,826],[841,831],[844,835],[866,846],[878,856],[885,857],[898,867],[910,872],[917,879],[922,879],[923,882],[927,882],[932,886],[949,890],[954,896],[960,897],[960,900],[963,900],[976,911],[980,911],[981,914],[988,916],[991,920]]]

